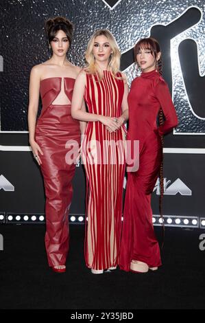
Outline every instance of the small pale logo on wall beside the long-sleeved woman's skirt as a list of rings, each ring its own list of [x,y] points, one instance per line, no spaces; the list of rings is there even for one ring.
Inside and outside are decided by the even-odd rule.
[[[171,185],[170,180],[167,181],[167,178],[164,178],[164,195],[176,195],[180,193],[181,195],[191,196],[191,189],[184,184],[181,179],[176,179]],[[153,192],[156,190],[156,194],[160,195],[160,179],[158,178],[156,181],[156,185],[154,187]]]

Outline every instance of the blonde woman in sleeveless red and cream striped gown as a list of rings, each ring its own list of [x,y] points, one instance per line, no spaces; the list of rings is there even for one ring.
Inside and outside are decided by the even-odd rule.
[[[119,263],[128,85],[119,72],[120,52],[108,30],[93,34],[87,68],[75,81],[71,113],[86,121],[82,161],[87,179],[85,259],[93,274]],[[88,112],[81,110],[86,101]]]

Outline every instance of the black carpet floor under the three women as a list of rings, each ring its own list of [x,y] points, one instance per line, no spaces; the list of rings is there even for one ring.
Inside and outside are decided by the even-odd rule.
[[[67,272],[56,274],[47,265],[44,225],[0,226],[1,309],[205,309],[202,230],[166,228],[158,271],[93,275],[84,263],[84,226],[70,229]]]

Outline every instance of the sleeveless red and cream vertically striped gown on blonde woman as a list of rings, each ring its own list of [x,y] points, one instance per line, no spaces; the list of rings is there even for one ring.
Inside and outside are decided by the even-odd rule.
[[[118,118],[124,82],[104,71],[99,80],[86,74],[84,100],[88,112]],[[82,144],[86,170],[85,260],[92,269],[119,264],[123,179],[125,173],[125,128],[109,133],[101,122],[88,122]]]

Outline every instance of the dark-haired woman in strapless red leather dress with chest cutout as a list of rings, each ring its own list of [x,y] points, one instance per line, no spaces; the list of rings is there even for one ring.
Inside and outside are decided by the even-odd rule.
[[[69,207],[73,195],[75,160],[67,153],[80,144],[80,122],[71,117],[75,78],[80,71],[67,60],[73,34],[72,23],[56,17],[46,21],[52,56],[32,68],[29,80],[29,143],[45,183],[45,247],[49,266],[64,272],[69,251]],[[39,92],[43,103],[36,123]],[[83,124],[81,123],[82,131]]]

